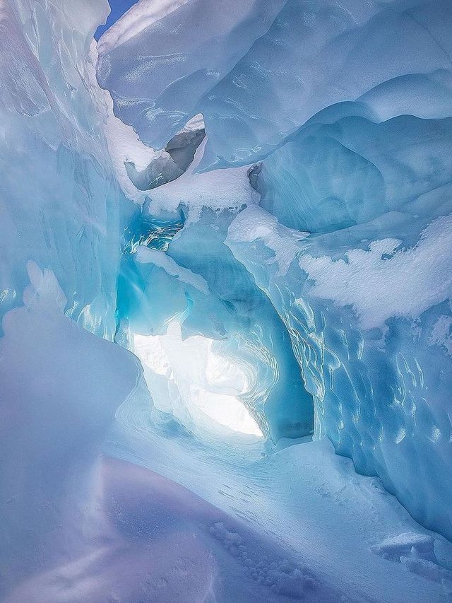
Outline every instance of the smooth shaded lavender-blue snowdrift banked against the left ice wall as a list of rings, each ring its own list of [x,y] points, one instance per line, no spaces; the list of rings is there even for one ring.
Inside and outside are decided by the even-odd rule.
[[[52,271],[29,262],[28,273],[0,339],[1,597],[61,563],[68,542],[77,555],[86,534],[97,537],[102,440],[141,374],[131,353],[64,316]]]

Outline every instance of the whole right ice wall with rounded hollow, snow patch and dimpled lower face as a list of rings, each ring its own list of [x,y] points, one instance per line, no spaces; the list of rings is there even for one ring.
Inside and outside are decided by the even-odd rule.
[[[450,117],[329,107],[254,172],[275,217],[247,210],[228,241],[292,334],[319,433],[449,537],[451,151]]]

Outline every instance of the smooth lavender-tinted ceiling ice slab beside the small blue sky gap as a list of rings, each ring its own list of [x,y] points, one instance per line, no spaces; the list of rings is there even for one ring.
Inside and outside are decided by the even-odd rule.
[[[163,148],[283,4],[229,0],[219,11],[209,0],[139,2],[99,41],[97,77],[112,93],[115,115]]]

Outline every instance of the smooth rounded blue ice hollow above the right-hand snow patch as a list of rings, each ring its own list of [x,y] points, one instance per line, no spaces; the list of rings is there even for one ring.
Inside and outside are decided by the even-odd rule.
[[[379,235],[412,245],[429,220],[448,213],[451,132],[450,117],[374,122],[362,103],[339,103],[259,164],[253,185],[261,206],[290,228],[340,236],[379,219]]]

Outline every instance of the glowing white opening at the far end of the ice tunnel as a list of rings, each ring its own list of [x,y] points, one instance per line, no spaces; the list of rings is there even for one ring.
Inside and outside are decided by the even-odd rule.
[[[133,348],[155,406],[186,426],[193,422],[209,430],[215,421],[232,431],[263,437],[239,400],[248,387],[244,371],[215,353],[214,343],[201,335],[183,340],[177,321],[168,325],[164,335],[133,335]]]

